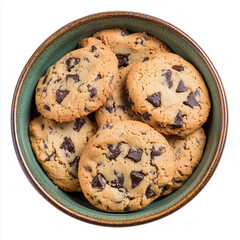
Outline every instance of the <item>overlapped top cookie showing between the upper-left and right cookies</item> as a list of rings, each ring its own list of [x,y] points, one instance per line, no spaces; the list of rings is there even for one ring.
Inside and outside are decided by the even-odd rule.
[[[169,52],[159,39],[146,33],[131,33],[127,29],[108,29],[97,32],[100,39],[118,58],[119,80],[112,96],[96,111],[98,125],[117,120],[138,120],[127,100],[125,81],[132,66],[156,51]]]

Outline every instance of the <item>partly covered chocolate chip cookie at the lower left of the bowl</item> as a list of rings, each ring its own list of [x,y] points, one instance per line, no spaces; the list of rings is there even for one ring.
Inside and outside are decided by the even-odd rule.
[[[29,124],[29,136],[38,162],[48,177],[65,191],[81,191],[78,163],[97,126],[89,117],[58,123],[42,116]]]

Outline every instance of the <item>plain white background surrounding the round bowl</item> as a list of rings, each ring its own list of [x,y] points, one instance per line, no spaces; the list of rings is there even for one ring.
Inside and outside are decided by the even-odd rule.
[[[124,228],[84,223],[48,203],[20,168],[10,131],[13,91],[31,54],[63,25],[110,10],[150,14],[190,35],[218,70],[230,113],[225,150],[206,187],[170,216]],[[0,239],[240,239],[239,10],[232,0],[0,0]]]

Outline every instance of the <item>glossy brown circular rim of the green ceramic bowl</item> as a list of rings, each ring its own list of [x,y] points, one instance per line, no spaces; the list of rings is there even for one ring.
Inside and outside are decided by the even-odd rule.
[[[113,17],[129,17],[129,18],[135,18],[144,20],[156,25],[160,25],[162,28],[165,28],[169,31],[174,32],[176,35],[178,35],[183,40],[187,41],[188,44],[191,45],[192,48],[195,49],[197,54],[201,57],[202,61],[208,66],[208,69],[210,70],[210,73],[212,75],[212,78],[215,81],[218,96],[220,99],[220,105],[221,105],[221,117],[222,117],[222,125],[221,125],[221,132],[220,132],[220,138],[217,145],[216,152],[214,154],[214,158],[210,164],[210,166],[207,169],[206,174],[202,177],[201,181],[195,186],[195,188],[189,192],[183,199],[181,199],[179,202],[173,204],[171,207],[155,213],[153,215],[141,217],[138,219],[129,219],[129,220],[106,220],[106,219],[98,219],[94,217],[89,217],[84,214],[80,214],[66,206],[64,206],[62,203],[60,203],[57,199],[52,197],[38,182],[38,180],[34,177],[33,173],[31,172],[30,168],[28,167],[27,162],[24,159],[23,151],[21,149],[19,139],[18,139],[18,133],[17,133],[17,109],[18,109],[18,102],[19,102],[19,96],[21,93],[21,89],[23,86],[23,83],[25,81],[26,76],[28,75],[29,70],[31,69],[34,62],[37,60],[38,56],[59,36],[66,33],[67,31],[99,19],[107,19],[107,18],[113,18]],[[186,33],[184,33],[179,28],[175,27],[174,25],[159,19],[157,17],[138,13],[138,12],[132,12],[132,11],[107,11],[107,12],[99,12],[94,13],[91,15],[87,15],[85,17],[79,18],[77,20],[74,20],[60,29],[58,29],[56,32],[54,32],[52,35],[50,35],[38,48],[37,50],[32,54],[28,62],[26,63],[25,67],[23,68],[18,82],[15,87],[15,91],[13,94],[12,99],[12,106],[11,106],[11,133],[12,133],[12,140],[13,145],[15,148],[15,152],[18,158],[18,161],[23,169],[23,172],[25,173],[26,177],[30,181],[30,183],[34,186],[34,188],[47,200],[49,201],[53,206],[61,210],[62,212],[85,222],[93,223],[97,225],[102,226],[133,226],[133,225],[139,225],[147,222],[151,222],[160,218],[163,218],[178,209],[182,208],[184,205],[186,205],[189,201],[191,201],[207,184],[207,182],[212,177],[214,171],[216,170],[216,167],[218,166],[218,163],[220,161],[220,158],[223,153],[223,149],[225,146],[226,138],[227,138],[227,130],[228,130],[228,106],[227,106],[227,98],[225,94],[225,90],[222,84],[222,81],[220,79],[220,76],[214,67],[213,63],[209,59],[209,57],[206,55],[206,53],[201,49],[201,47]]]

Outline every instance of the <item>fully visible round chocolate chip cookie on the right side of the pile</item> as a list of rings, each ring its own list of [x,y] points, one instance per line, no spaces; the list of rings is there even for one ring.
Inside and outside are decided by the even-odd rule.
[[[157,53],[134,65],[126,88],[132,109],[166,135],[185,136],[209,115],[211,102],[202,76],[173,53]]]

